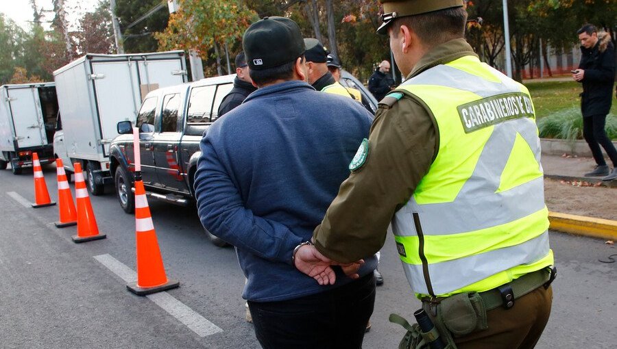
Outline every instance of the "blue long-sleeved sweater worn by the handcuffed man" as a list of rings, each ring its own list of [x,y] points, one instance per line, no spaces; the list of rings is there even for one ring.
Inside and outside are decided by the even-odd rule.
[[[245,299],[299,298],[352,281],[337,268],[335,285],[321,286],[291,254],[324,218],[371,122],[350,98],[287,81],[260,88],[210,126],[195,173],[199,218],[236,246]],[[360,276],[376,266],[365,258]]]

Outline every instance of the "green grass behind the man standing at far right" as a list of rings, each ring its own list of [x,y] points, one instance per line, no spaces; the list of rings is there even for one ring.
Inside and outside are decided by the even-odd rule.
[[[583,91],[576,81],[542,81],[525,83],[529,88],[537,127],[542,138],[576,140],[583,138],[580,97]],[[609,138],[617,140],[617,102],[613,99],[606,119]]]

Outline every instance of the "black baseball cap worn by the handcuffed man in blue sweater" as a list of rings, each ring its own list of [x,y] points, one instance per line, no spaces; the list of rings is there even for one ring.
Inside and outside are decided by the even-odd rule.
[[[276,16],[264,17],[246,29],[242,47],[251,70],[281,66],[306,51],[298,24]]]

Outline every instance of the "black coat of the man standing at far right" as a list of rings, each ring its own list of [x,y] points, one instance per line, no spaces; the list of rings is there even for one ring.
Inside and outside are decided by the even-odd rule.
[[[606,115],[613,101],[615,81],[615,48],[611,36],[605,31],[598,32],[598,42],[591,49],[581,47],[581,64],[585,70],[581,112],[583,116]]]

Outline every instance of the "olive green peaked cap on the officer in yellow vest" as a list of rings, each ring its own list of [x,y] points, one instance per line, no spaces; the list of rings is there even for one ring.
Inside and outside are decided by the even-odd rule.
[[[459,8],[463,0],[379,0],[383,4],[382,25],[378,34],[387,34],[388,25],[396,18],[423,14],[446,8]]]

